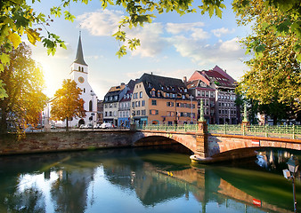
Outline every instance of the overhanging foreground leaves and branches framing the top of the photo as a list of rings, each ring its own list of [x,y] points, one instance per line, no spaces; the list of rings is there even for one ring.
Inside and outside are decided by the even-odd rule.
[[[31,2],[35,5],[37,1],[40,2],[41,0],[32,0]],[[61,17],[63,14],[66,20],[73,21],[75,16],[68,9],[72,2],[88,4],[89,0],[61,0],[60,5],[50,8],[50,14],[55,17]],[[123,28],[142,26],[143,23],[155,19],[156,13],[163,12],[178,12],[183,15],[199,10],[200,14],[208,13],[210,17],[216,15],[222,18],[222,12],[225,8],[224,0],[202,0],[198,2],[193,0],[100,0],[100,2],[102,3],[102,9],[107,8],[108,5],[123,6],[127,12],[127,15],[120,20],[118,32],[113,35],[120,43],[117,52],[118,57],[125,55],[127,49],[133,50],[140,45],[139,39],[128,38]],[[283,57],[288,54],[290,60],[300,62],[301,2],[299,0],[232,0],[232,9],[240,17],[240,24],[260,21],[256,36],[250,36],[248,41],[245,42],[248,51],[256,53],[256,59],[261,59],[264,51],[271,52],[279,46],[278,43],[264,43],[264,36],[270,41],[273,41],[275,37],[290,37],[291,40],[288,41],[290,43],[288,44],[289,50],[294,51],[294,54],[289,54],[288,51],[284,50],[285,45],[282,45],[283,48],[278,51],[281,53],[284,50],[281,54]],[[274,12],[273,19],[262,18],[260,12],[267,13],[271,10]],[[27,35],[30,43],[42,42],[45,48],[48,49],[49,54],[54,54],[57,46],[66,48],[59,36],[47,30],[47,26],[52,22],[51,17],[46,17],[43,13],[37,13],[34,7],[30,6],[25,0],[1,1],[0,20],[0,45],[3,45],[7,51],[20,44],[20,36],[23,34]],[[46,32],[46,34],[43,35],[42,32]],[[272,50],[270,47],[274,49]],[[0,61],[0,72],[2,72],[4,66],[10,60],[6,53],[1,52]],[[255,64],[253,65],[254,62],[250,61],[249,63],[252,67],[256,67]],[[268,62],[265,65],[268,66]],[[290,76],[290,79],[292,78]],[[3,82],[0,79],[0,99],[6,96]]]

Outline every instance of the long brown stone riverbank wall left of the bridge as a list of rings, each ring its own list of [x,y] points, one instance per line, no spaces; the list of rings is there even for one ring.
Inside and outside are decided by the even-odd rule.
[[[137,133],[131,130],[29,132],[20,139],[15,134],[4,134],[0,135],[0,155],[175,144],[168,138],[142,139],[142,142],[134,144]]]

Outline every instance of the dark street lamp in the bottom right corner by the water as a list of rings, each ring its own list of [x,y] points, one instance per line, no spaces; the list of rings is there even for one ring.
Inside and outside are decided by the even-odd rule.
[[[297,201],[296,201],[296,189],[295,189],[295,175],[299,168],[299,162],[297,157],[291,155],[289,162],[287,162],[289,170],[283,170],[283,176],[287,179],[291,179],[293,183],[293,199],[294,199],[294,212],[297,212]]]

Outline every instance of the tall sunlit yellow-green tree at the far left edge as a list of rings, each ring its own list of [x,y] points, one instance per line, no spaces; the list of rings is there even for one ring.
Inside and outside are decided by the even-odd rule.
[[[11,63],[0,73],[8,94],[0,99],[1,133],[7,132],[8,124],[17,130],[23,130],[28,123],[36,124],[47,99],[43,93],[43,72],[31,59],[28,45],[20,43],[17,49],[7,54]]]

